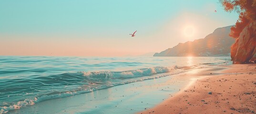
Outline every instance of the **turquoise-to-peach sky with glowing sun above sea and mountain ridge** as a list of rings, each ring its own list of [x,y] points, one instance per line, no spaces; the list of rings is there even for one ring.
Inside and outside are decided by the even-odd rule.
[[[237,19],[218,0],[0,0],[0,56],[138,56]]]

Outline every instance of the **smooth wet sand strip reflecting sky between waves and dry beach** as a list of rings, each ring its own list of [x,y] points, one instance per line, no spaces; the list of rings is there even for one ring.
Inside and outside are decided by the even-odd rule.
[[[229,70],[230,67],[230,65],[227,65],[195,68],[172,76],[114,86],[81,95],[46,100],[8,113],[134,114],[140,111],[157,113],[154,110],[154,112],[150,112],[151,109],[154,109],[156,104],[163,104],[163,102],[168,101],[170,97],[174,98],[182,95],[185,90],[189,89],[189,87],[198,80],[221,76],[221,74],[225,74],[225,71]],[[125,111],[125,113],[123,111]],[[171,112],[170,114],[173,113],[174,112]]]

